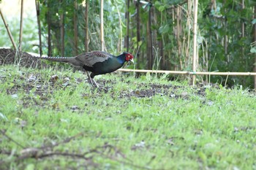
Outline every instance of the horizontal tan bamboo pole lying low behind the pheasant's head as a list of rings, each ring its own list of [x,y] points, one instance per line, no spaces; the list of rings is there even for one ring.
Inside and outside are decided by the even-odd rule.
[[[256,72],[189,72],[146,69],[118,69],[119,72],[163,73],[163,74],[188,74],[188,75],[221,75],[221,76],[256,76]]]

